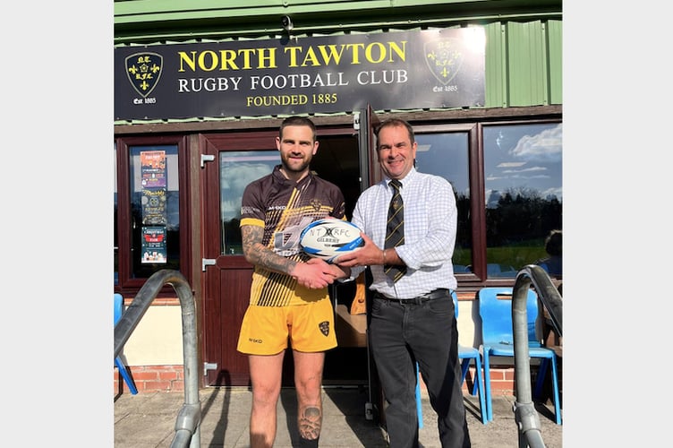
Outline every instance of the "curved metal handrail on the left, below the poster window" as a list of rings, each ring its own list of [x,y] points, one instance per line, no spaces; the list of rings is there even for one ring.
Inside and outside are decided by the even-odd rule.
[[[124,349],[124,344],[142,316],[148,310],[158,292],[165,285],[171,285],[183,314],[183,358],[184,358],[184,403],[175,419],[175,436],[171,448],[200,448],[200,417],[199,400],[199,360],[196,349],[196,305],[192,288],[180,271],[164,269],[152,274],[142,285],[131,305],[126,308],[122,317],[115,324],[115,357]]]

